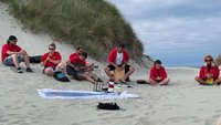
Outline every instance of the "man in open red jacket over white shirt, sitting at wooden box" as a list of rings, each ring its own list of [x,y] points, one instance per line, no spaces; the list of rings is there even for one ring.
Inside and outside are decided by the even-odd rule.
[[[110,71],[114,71],[115,69],[120,71],[125,70],[125,75],[122,80],[122,82],[125,82],[135,72],[135,67],[127,64],[128,61],[129,53],[125,49],[125,44],[122,43],[110,51],[108,56],[109,65],[107,65],[104,71],[109,79],[113,79],[113,73],[110,73]]]

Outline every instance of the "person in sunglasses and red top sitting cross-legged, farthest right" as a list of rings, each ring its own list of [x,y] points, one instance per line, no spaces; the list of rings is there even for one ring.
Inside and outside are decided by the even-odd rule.
[[[199,76],[196,76],[194,80],[202,85],[219,85],[221,83],[220,71],[218,65],[213,63],[212,55],[206,55],[206,64],[201,66]]]

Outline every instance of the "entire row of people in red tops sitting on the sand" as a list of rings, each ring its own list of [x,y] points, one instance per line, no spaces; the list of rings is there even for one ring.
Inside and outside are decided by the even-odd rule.
[[[6,66],[15,66],[18,73],[22,73],[20,63],[24,62],[25,71],[33,72],[30,67],[29,54],[25,50],[21,49],[18,44],[18,39],[14,35],[10,35],[7,43],[2,45],[1,60]],[[56,51],[56,45],[51,43],[49,45],[49,52],[44,53],[41,58],[41,65],[43,65],[43,74],[53,76],[54,72],[61,71],[76,80],[86,80],[91,83],[95,83],[98,80],[93,73],[94,63],[86,62],[87,53],[83,48],[76,48],[76,52],[71,53],[67,61],[62,61],[60,52]],[[114,79],[112,71],[124,71],[125,75],[115,82],[128,82],[129,76],[135,72],[135,67],[128,64],[129,53],[125,48],[125,44],[119,44],[114,48],[108,55],[108,65],[104,69],[109,79]],[[204,58],[206,64],[201,66],[199,76],[196,76],[196,81],[202,85],[221,83],[219,77],[220,71],[218,65],[213,63],[213,58],[207,55]],[[150,69],[149,79],[146,81],[150,85],[167,85],[170,79],[167,75],[165,67],[161,65],[160,60],[154,62]]]

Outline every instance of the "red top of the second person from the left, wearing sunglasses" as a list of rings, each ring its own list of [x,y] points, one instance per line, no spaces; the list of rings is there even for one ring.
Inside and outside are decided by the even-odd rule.
[[[49,52],[45,53],[43,56],[42,56],[42,60],[41,62],[44,62],[46,60],[46,58],[49,56]],[[51,60],[53,61],[59,61],[59,60],[62,60],[62,56],[59,52],[54,52],[51,56],[50,56]],[[54,64],[53,62],[51,61],[46,61],[45,63],[45,66],[51,66],[51,67],[55,67],[57,64]]]

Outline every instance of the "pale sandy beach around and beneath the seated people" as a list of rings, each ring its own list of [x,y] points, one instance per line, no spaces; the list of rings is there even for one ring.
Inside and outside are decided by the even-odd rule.
[[[53,39],[48,34],[33,34],[23,29],[0,2],[0,45],[8,37],[18,37],[18,44],[30,55],[43,54]],[[57,51],[63,60],[73,52],[69,44],[59,43]],[[96,73],[105,81],[105,64],[99,65]],[[86,90],[92,91],[93,84],[71,80],[61,83],[42,74],[40,64],[32,64],[35,73],[18,74],[11,67],[0,64],[0,125],[215,125],[221,115],[221,87],[201,86],[194,82],[199,69],[167,69],[171,82],[167,86],[136,84],[138,79],[147,79],[149,69],[136,66],[131,75],[133,88],[122,88],[138,94],[139,98],[127,100],[44,100],[38,88]],[[101,111],[98,102],[116,102],[123,110]]]

